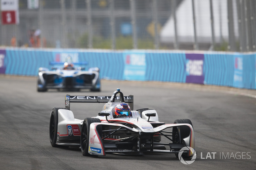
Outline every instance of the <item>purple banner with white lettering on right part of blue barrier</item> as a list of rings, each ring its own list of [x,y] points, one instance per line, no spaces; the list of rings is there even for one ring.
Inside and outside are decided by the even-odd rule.
[[[186,83],[204,84],[204,54],[186,54]]]

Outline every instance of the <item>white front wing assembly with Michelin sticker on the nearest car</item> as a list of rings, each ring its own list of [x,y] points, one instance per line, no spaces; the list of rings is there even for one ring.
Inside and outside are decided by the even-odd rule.
[[[116,127],[116,129],[126,129],[127,131],[137,134],[137,137],[129,137],[132,140],[133,139],[133,147],[132,148],[125,148],[122,147],[122,145],[128,145],[129,142],[127,140],[125,142],[120,142],[122,139],[111,139],[112,142],[105,142],[106,137],[101,138],[101,135],[99,134],[99,131],[97,130],[97,126],[102,125],[102,126],[113,126]],[[182,144],[174,144],[172,143],[172,137],[171,132],[166,131],[166,129],[173,128],[173,127],[180,127],[180,126],[188,126],[190,128],[190,134],[188,137],[185,137],[182,139]],[[167,134],[164,134],[167,133]],[[154,136],[161,135],[166,137],[169,142],[165,143],[160,143],[160,142],[154,142]],[[150,137],[150,140],[148,142],[142,142],[145,137]],[[128,138],[128,137],[127,137]],[[163,153],[179,153],[180,149],[189,146],[191,148],[195,148],[195,137],[194,137],[194,130],[193,127],[190,124],[187,123],[180,123],[180,124],[164,124],[161,126],[158,126],[154,128],[154,132],[142,132],[138,129],[135,128],[129,128],[123,124],[118,124],[118,123],[92,123],[90,125],[90,134],[89,138],[89,148],[88,148],[88,153],[92,155],[103,155],[105,156],[106,153],[132,153],[132,152],[163,152]],[[116,142],[115,142],[116,140]],[[121,147],[119,147],[119,146]],[[154,149],[155,146],[159,145],[165,145],[170,147],[169,150],[165,149]],[[116,146],[116,147],[115,147]],[[134,147],[135,146],[135,147]],[[184,151],[186,153],[186,151]],[[194,153],[189,151],[187,153],[188,156],[192,156]]]

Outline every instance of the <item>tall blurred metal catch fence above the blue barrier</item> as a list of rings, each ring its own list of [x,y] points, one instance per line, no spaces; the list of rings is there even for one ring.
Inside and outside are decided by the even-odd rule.
[[[256,51],[255,0],[19,0],[0,45]]]

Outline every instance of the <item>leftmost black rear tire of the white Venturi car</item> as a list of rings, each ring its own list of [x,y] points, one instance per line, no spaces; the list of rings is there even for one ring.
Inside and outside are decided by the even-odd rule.
[[[54,107],[52,109],[51,116],[50,116],[49,134],[50,134],[50,142],[51,142],[52,147],[60,146],[60,145],[56,144],[57,132],[58,132],[58,110],[59,109],[66,109],[66,108]]]

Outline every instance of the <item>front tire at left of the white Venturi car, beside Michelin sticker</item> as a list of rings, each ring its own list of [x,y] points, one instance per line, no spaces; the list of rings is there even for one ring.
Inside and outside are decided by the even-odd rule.
[[[90,136],[90,125],[91,123],[95,122],[101,122],[98,118],[85,118],[82,130],[81,130],[81,138],[80,138],[80,144],[81,144],[81,151],[83,156],[93,156],[90,153],[88,153],[89,149],[89,136]],[[100,135],[101,136],[101,135]]]

